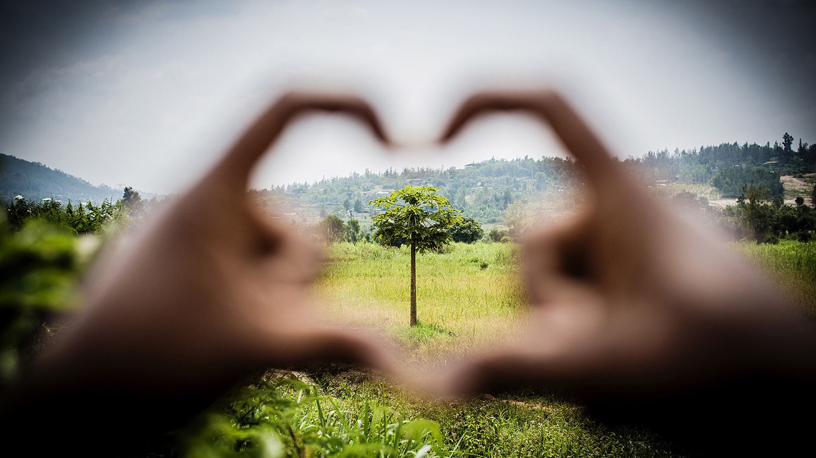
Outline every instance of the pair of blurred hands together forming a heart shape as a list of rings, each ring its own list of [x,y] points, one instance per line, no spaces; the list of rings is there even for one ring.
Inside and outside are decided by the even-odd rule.
[[[246,200],[259,157],[293,118],[313,110],[357,117],[389,144],[374,110],[353,95],[278,99],[202,180],[103,255],[86,284],[88,306],[40,363],[55,396],[66,386],[131,386],[141,393],[135,411],[170,397],[178,405],[180,393],[206,403],[246,373],[316,359],[404,374],[379,340],[308,315],[319,253]],[[754,355],[773,355],[772,367],[795,364],[793,349],[813,339],[809,328],[742,258],[639,187],[557,93],[473,95],[440,142],[481,113],[508,110],[552,126],[583,165],[594,198],[523,244],[534,307],[521,343],[418,386],[459,395],[534,383],[588,398],[662,399],[738,377],[755,368]],[[769,341],[775,351],[765,348]]]

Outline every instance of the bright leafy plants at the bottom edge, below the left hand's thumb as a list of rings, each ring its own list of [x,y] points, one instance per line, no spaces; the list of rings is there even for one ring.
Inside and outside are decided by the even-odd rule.
[[[320,393],[295,378],[266,377],[242,389],[220,412],[188,432],[190,457],[463,456],[446,446],[439,425],[406,418],[372,399]]]

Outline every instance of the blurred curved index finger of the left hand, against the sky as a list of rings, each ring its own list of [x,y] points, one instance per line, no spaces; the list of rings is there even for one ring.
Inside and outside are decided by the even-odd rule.
[[[215,167],[215,175],[237,192],[243,192],[252,167],[280,137],[290,121],[314,110],[351,115],[369,126],[380,142],[390,144],[379,117],[365,100],[353,95],[290,92],[267,108],[229,148],[224,160]]]

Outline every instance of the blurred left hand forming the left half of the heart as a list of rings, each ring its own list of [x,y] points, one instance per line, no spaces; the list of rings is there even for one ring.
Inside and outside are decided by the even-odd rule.
[[[87,275],[86,308],[23,381],[29,395],[18,397],[21,409],[33,399],[59,399],[81,411],[83,402],[105,399],[126,405],[136,423],[154,403],[171,400],[161,420],[150,413],[131,425],[158,429],[194,415],[186,402],[206,407],[253,371],[319,359],[388,370],[376,341],[317,324],[307,288],[320,251],[246,197],[259,156],[289,121],[313,110],[348,113],[388,143],[373,110],[356,97],[290,93],[277,100],[200,183],[134,240],[103,255]],[[73,407],[61,414],[68,425],[82,423]]]

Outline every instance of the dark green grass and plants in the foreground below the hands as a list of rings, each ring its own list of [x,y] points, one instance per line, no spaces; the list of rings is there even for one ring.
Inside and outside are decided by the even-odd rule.
[[[556,397],[432,403],[355,371],[264,377],[202,417],[182,456],[671,456],[637,429],[610,429]]]

